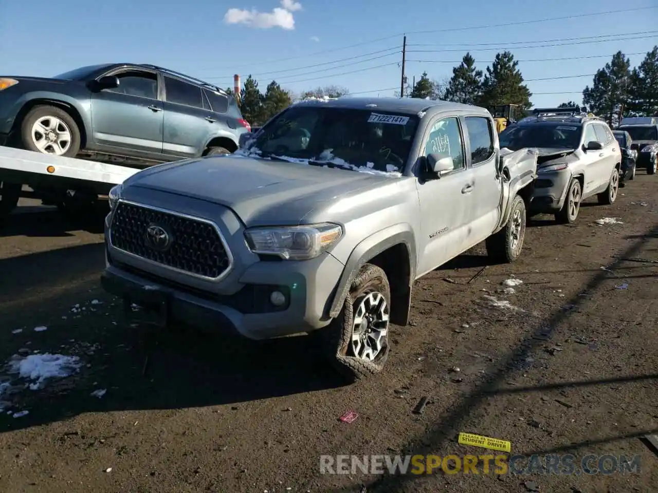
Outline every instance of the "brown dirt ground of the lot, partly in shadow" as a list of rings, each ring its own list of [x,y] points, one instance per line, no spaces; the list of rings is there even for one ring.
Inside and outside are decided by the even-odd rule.
[[[641,437],[658,433],[658,181],[638,172],[620,193],[613,206],[588,200],[575,225],[540,216],[512,266],[475,248],[418,281],[385,373],[351,386],[307,337],[126,326],[99,287],[102,235],[21,207],[0,233],[0,367],[37,351],[82,366],[7,398],[0,491],[656,491],[658,456]],[[622,223],[595,223],[605,217]],[[506,293],[506,279],[522,284]],[[3,371],[0,383],[15,378]],[[359,416],[343,423],[349,410]],[[320,474],[320,454],[497,454],[459,432],[576,464],[638,455],[641,469]]]

